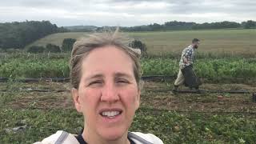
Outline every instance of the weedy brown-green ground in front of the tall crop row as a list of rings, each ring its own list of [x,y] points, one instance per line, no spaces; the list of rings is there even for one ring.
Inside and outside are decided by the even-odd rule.
[[[172,94],[168,82],[145,82],[141,106],[130,130],[154,133],[165,143],[253,143],[256,106],[250,94]],[[67,130],[82,129],[74,110],[69,83],[1,83],[1,143],[31,143]],[[186,89],[186,88],[183,88]],[[202,89],[253,92],[255,85],[205,84]],[[56,90],[32,92],[30,90]],[[57,90],[63,90],[58,92]],[[222,95],[222,98],[218,98]],[[12,128],[26,126],[23,130]]]

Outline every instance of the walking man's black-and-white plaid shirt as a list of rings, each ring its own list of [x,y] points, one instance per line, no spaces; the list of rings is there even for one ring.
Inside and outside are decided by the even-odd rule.
[[[186,58],[188,63],[184,63],[184,60],[183,58]],[[194,63],[194,48],[192,45],[190,46],[187,46],[183,51],[182,51],[182,58],[179,62],[179,66],[181,69],[183,69],[184,67],[186,66],[190,66],[190,65],[193,65]]]

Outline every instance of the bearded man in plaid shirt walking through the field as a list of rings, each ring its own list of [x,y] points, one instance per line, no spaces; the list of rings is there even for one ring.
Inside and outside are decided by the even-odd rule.
[[[198,90],[198,86],[200,85],[198,83],[200,82],[197,82],[198,78],[194,74],[193,70],[194,53],[195,50],[198,49],[198,45],[199,39],[194,38],[192,40],[192,44],[182,51],[182,58],[179,62],[178,77],[174,82],[174,92],[177,92],[178,86],[181,86],[184,83],[186,86],[189,86],[190,89],[195,88]]]

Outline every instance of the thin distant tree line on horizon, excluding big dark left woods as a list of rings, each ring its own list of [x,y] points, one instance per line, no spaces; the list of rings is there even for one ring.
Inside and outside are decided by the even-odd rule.
[[[115,30],[116,26],[102,26],[102,27],[96,27],[88,28],[88,26],[69,26],[67,29],[70,31],[102,31],[102,30]],[[144,26],[121,26],[120,30],[126,31],[126,32],[134,32],[134,31],[166,31],[166,30],[206,30],[206,29],[251,29],[256,28],[256,22],[249,20],[246,22],[229,22],[229,21],[223,21],[223,22],[204,22],[204,23],[196,23],[196,22],[178,22],[178,21],[172,21],[172,22],[165,22],[164,24],[158,24],[153,23],[150,25],[144,25]]]

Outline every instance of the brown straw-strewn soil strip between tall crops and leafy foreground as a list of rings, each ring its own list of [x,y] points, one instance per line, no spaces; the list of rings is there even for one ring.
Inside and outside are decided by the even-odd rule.
[[[154,90],[172,89],[172,85],[164,82],[144,82],[141,95],[141,107],[158,110],[178,110],[197,112],[242,112],[255,113],[256,102],[251,94],[173,94],[154,92]],[[256,92],[256,86],[246,84],[204,84],[207,90],[250,90]],[[0,89],[13,89],[12,92],[2,93],[12,98],[6,106],[30,109],[70,109],[73,102],[70,95],[70,85],[58,82],[21,83],[14,86],[0,85]],[[64,92],[27,92],[24,89],[54,89]],[[186,87],[180,87],[186,90]]]

